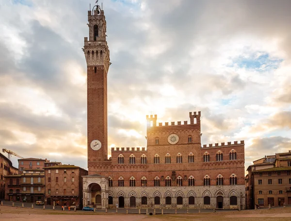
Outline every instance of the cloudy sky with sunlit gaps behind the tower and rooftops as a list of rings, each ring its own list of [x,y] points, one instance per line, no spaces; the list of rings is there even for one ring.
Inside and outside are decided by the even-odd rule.
[[[0,148],[87,167],[87,11],[0,0]],[[290,0],[103,0],[110,147],[202,113],[202,144],[245,140],[245,166],[291,150]],[[6,153],[5,153],[6,155]],[[17,157],[13,156],[17,167]]]

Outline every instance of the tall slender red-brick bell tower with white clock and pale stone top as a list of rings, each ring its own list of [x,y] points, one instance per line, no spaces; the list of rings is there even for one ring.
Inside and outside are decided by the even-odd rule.
[[[88,170],[107,159],[107,73],[110,52],[106,41],[104,11],[95,5],[88,11],[89,38],[84,38],[87,62]]]

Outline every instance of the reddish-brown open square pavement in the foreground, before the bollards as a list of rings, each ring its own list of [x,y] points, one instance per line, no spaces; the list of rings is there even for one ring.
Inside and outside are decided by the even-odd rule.
[[[274,219],[275,218],[275,219]],[[138,215],[93,213],[77,211],[52,211],[12,206],[0,206],[0,221],[291,221],[291,207],[271,210],[218,211],[216,213]]]

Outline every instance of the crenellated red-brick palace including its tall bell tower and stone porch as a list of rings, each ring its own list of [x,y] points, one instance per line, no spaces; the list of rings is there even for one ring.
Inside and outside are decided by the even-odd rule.
[[[201,146],[201,113],[190,121],[157,124],[146,116],[146,148],[107,145],[107,73],[110,51],[104,11],[88,11],[88,175],[83,206],[97,208],[245,208],[244,141]]]

